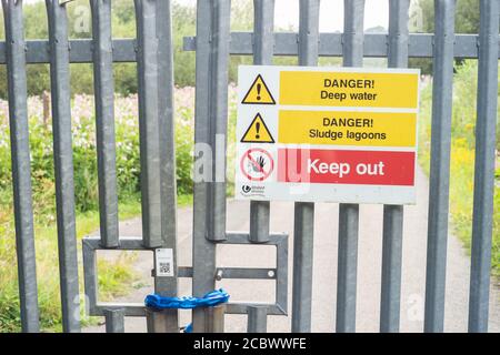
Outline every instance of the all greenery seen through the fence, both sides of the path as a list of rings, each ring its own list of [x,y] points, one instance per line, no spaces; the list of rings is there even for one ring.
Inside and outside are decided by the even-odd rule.
[[[420,1],[424,14],[424,31],[432,30],[431,0]],[[458,0],[457,28],[459,32],[477,31],[478,0]],[[134,38],[136,20],[133,1],[113,1],[113,37]],[[469,10],[468,10],[469,9]],[[472,10],[471,10],[472,9]],[[192,202],[192,150],[194,106],[194,53],[182,50],[183,37],[196,34],[196,9],[177,3],[173,12],[174,42],[174,93],[176,105],[176,154],[178,204]],[[69,2],[69,29],[71,38],[90,38],[90,31],[80,31],[81,3]],[[232,2],[231,30],[252,29],[253,10],[251,0]],[[0,18],[0,37],[3,37],[3,19]],[[26,37],[47,38],[47,13],[43,2],[24,6]],[[81,29],[81,28],[80,28]],[[232,57],[229,68],[231,82],[237,81],[237,68],[251,63],[251,57]],[[297,58],[274,58],[276,64],[297,64]],[[322,58],[321,65],[339,65],[341,59]],[[429,72],[429,62],[414,61],[412,67],[423,67]],[[428,67],[424,67],[428,65]],[[426,69],[427,68],[427,69]],[[134,63],[114,65],[116,78],[116,133],[117,169],[120,219],[140,214],[140,162],[138,134],[137,68]],[[451,163],[450,211],[453,232],[470,246],[472,214],[473,146],[476,122],[476,62],[466,62],[458,69],[453,94],[453,141]],[[59,271],[56,229],[54,176],[52,156],[52,131],[50,114],[43,119],[43,102],[40,95],[49,90],[49,67],[28,67],[29,120],[33,206],[36,221],[36,247],[39,285],[39,305],[43,331],[60,331]],[[92,67],[71,65],[74,192],[77,206],[78,239],[99,227],[98,180],[96,159],[96,132]],[[0,98],[7,97],[6,67],[0,67]],[[233,84],[229,87],[228,120],[228,193],[233,190],[236,155],[236,98]],[[422,92],[420,121],[420,163],[429,166],[430,155],[430,108],[431,87]],[[10,139],[8,105],[0,100],[0,333],[20,329],[19,295],[17,282],[16,242],[12,211],[12,187],[10,170]],[[500,171],[498,173],[500,180]],[[496,189],[493,230],[493,273],[500,276],[500,189]],[[80,243],[79,243],[80,244]],[[80,253],[79,253],[80,255]],[[137,275],[131,271],[133,254],[122,254],[116,260],[100,260],[99,287],[103,300],[126,295],[130,292]],[[82,271],[80,271],[80,278]],[[82,285],[81,285],[82,290]],[[83,317],[83,322],[90,320]]]

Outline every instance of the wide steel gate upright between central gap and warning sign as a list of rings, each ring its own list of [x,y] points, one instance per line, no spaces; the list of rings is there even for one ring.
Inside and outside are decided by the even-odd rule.
[[[226,239],[226,129],[230,8],[230,0],[199,0],[197,6],[194,122],[197,156],[192,253],[192,292],[196,296],[202,296],[214,288],[214,242]],[[209,172],[208,176],[207,172]],[[192,315],[193,332],[206,331],[206,312],[194,310]]]

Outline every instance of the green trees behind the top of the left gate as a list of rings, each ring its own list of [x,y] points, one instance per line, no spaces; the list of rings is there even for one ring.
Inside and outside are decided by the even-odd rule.
[[[91,38],[90,8],[87,3],[67,3],[69,37],[71,39]],[[24,31],[27,39],[47,39],[47,11],[44,1],[23,6]],[[136,38],[136,10],[133,1],[112,1],[112,31],[114,38]],[[194,84],[194,52],[182,51],[182,38],[196,33],[196,10],[174,3],[172,6],[174,33],[174,81],[177,85]],[[3,18],[0,17],[0,37],[3,34]],[[71,64],[72,94],[93,93],[93,72],[91,64]],[[122,95],[137,93],[137,68],[134,63],[114,64],[114,89]],[[40,95],[50,90],[49,65],[28,67],[28,94]],[[6,67],[0,67],[0,98],[7,98]]]

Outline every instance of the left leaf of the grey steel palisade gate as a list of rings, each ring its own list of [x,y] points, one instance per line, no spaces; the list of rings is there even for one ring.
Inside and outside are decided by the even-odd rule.
[[[113,40],[111,0],[91,0],[92,39],[69,40],[67,1],[47,0],[49,38],[24,41],[22,1],[3,0],[12,141],[16,232],[23,332],[38,332],[33,213],[27,114],[27,64],[49,63],[52,94],[57,221],[64,332],[80,332],[80,290],[76,236],[71,143],[70,63],[92,63],[96,92],[100,237],[83,241],[86,295],[91,315],[107,318],[107,331],[122,332],[124,316],[144,316],[143,305],[104,305],[97,300],[96,251],[176,252],[176,166],[173,146],[173,72],[170,1],[137,0],[137,39]],[[121,240],[113,112],[113,62],[137,62],[142,183],[142,237]],[[157,254],[156,254],[157,255]],[[177,257],[173,255],[173,263]],[[174,268],[176,265],[172,265]],[[176,275],[177,276],[177,275]],[[154,275],[154,290],[177,295],[177,277]],[[151,332],[178,331],[177,312],[148,313]]]

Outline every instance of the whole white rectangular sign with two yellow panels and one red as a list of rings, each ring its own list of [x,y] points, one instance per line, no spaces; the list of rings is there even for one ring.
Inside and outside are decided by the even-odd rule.
[[[236,197],[414,203],[419,77],[240,67]]]

